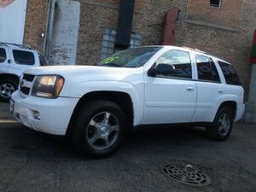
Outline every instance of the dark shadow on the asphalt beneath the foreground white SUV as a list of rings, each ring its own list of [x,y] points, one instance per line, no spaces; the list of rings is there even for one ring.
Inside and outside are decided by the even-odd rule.
[[[75,152],[67,137],[52,136],[37,131],[32,131],[16,124],[3,128],[0,124],[0,140],[8,146],[9,153],[26,152],[27,158],[33,159],[77,159],[84,157]],[[177,145],[197,145],[206,142],[205,131],[201,128],[188,127],[150,127],[133,131],[116,155],[129,151],[135,153],[145,150],[165,150]]]

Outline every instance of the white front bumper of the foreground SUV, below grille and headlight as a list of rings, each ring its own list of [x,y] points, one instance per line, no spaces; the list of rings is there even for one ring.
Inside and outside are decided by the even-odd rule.
[[[46,99],[36,96],[21,97],[20,90],[13,93],[15,102],[13,114],[21,124],[35,130],[53,135],[65,135],[73,110],[79,98],[58,97]],[[34,117],[34,112],[40,118]]]

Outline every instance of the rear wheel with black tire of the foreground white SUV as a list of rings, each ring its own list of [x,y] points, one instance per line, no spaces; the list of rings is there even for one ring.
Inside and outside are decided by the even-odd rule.
[[[207,126],[207,136],[215,141],[225,141],[230,137],[234,123],[234,111],[221,107],[215,115],[212,125]]]

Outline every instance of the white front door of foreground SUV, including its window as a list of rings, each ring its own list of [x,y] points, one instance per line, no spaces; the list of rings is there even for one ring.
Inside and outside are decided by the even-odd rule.
[[[171,49],[155,61],[172,64],[176,73],[149,77],[145,72],[145,107],[143,124],[190,122],[195,113],[196,84],[192,80],[189,52]]]

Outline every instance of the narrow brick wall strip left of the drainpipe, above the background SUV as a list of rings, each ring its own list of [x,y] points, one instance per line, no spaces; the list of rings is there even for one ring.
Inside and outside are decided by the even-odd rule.
[[[24,43],[41,52],[44,52],[45,38],[41,34],[46,32],[48,9],[48,0],[27,0]]]

